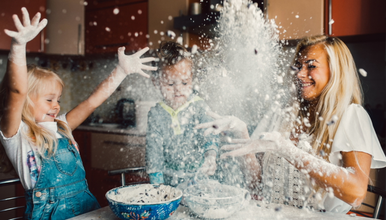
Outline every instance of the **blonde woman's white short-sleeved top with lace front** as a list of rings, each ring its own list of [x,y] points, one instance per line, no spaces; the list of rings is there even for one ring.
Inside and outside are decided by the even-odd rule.
[[[251,138],[258,137],[263,131],[277,131],[279,129],[277,112],[267,114],[268,117],[256,128]],[[298,146],[302,150],[309,151],[309,144],[313,136],[300,141]],[[371,168],[386,166],[386,157],[376,137],[370,117],[364,108],[357,104],[351,104],[346,109],[338,125],[331,154],[329,155],[332,164],[340,166],[341,160],[338,157],[340,152],[360,151],[372,156]],[[310,180],[283,157],[273,152],[265,152],[262,161],[262,183],[264,197],[271,202],[284,203],[288,205],[313,206],[324,208],[327,211],[347,213],[351,206],[346,202],[325,193],[322,202],[317,204],[315,199],[307,200],[312,190]]]

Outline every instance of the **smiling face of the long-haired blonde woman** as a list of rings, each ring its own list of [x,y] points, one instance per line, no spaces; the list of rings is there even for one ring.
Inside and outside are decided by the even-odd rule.
[[[328,54],[323,44],[309,46],[298,55],[296,75],[300,96],[307,101],[318,100],[330,80]]]

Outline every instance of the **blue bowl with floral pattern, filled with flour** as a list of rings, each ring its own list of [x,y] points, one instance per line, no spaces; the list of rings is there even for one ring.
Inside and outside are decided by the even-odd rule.
[[[163,220],[174,213],[182,191],[167,185],[138,184],[106,193],[111,210],[121,219]]]

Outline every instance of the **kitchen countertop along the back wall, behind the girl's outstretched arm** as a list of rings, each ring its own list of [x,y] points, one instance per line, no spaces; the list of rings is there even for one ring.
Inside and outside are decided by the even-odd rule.
[[[140,131],[137,128],[121,128],[118,124],[89,124],[79,125],[75,130],[91,131],[95,133],[122,134],[130,136],[146,136],[146,131]]]

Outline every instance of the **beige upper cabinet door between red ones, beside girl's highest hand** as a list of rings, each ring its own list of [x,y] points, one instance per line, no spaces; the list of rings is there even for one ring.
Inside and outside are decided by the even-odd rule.
[[[45,53],[84,54],[84,4],[79,0],[47,0]]]

